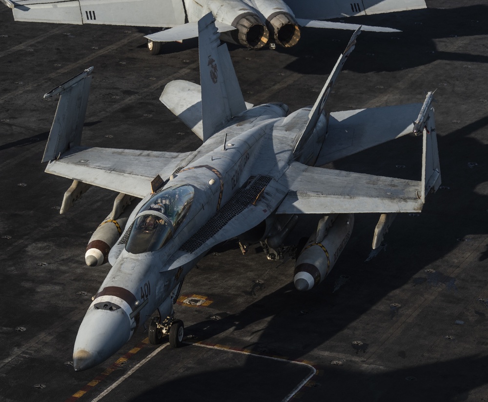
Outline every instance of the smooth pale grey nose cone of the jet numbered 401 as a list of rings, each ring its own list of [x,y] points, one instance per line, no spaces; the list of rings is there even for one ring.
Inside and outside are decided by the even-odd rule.
[[[75,371],[92,368],[107,360],[131,335],[130,320],[122,308],[105,310],[90,306],[76,336],[73,350]]]

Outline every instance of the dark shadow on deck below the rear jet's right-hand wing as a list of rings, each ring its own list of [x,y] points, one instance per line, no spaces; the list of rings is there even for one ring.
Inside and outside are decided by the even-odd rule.
[[[486,35],[488,26],[481,16],[487,13],[487,5],[474,5],[348,18],[345,22],[387,26],[402,32],[363,32],[358,39],[360,46],[357,46],[351,60],[347,61],[345,69],[359,73],[391,72],[436,60],[487,63],[487,56],[469,55],[463,53],[462,49],[459,53],[438,51],[434,42],[441,38]],[[303,28],[302,38],[295,47],[277,48],[275,51],[287,52],[297,58],[285,67],[288,70],[301,74],[326,75],[349,38],[350,31]],[[405,45],[406,42],[408,45]],[[311,58],[313,62],[310,62]]]

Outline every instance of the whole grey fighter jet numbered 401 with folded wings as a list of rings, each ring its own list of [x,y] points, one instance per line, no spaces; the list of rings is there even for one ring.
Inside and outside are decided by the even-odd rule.
[[[332,269],[353,214],[384,214],[377,245],[390,214],[419,212],[440,185],[432,93],[423,104],[326,113],[359,29],[314,105],[289,113],[283,103],[246,103],[212,14],[198,27],[201,84],[171,81],[160,98],[202,139],[196,151],[81,146],[93,67],[44,95],[61,98],[42,161],[46,172],[74,180],[61,213],[90,185],[120,193],[87,247],[87,264],[108,259],[112,268],[81,322],[77,371],[108,359],[155,312],[150,342],[169,335],[171,345],[181,345],[184,326],[173,305],[185,276],[213,246],[236,237],[243,248],[260,241],[268,258],[279,259],[286,239],[296,241],[297,222],[316,217],[296,262],[294,283],[305,291]],[[423,137],[420,181],[317,167],[412,132]]]

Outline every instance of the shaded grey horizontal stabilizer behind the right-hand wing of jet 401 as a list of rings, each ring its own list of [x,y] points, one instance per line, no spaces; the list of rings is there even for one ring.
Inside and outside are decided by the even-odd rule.
[[[316,166],[353,155],[413,131],[422,103],[331,112]]]

